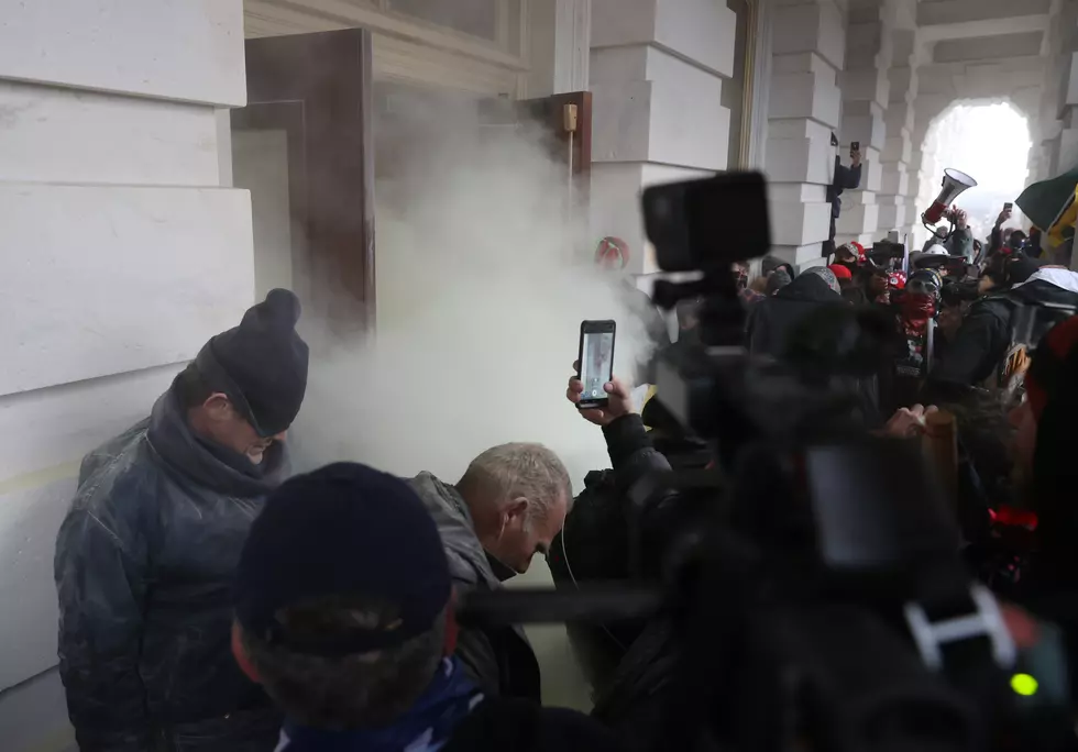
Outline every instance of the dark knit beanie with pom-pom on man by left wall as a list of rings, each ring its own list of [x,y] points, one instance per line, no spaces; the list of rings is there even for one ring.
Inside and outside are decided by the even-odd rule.
[[[207,386],[228,395],[261,436],[287,430],[304,402],[309,353],[297,321],[299,299],[270,290],[239,327],[211,339],[195,358]]]

